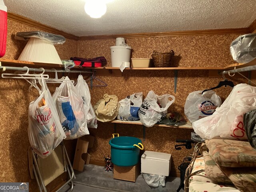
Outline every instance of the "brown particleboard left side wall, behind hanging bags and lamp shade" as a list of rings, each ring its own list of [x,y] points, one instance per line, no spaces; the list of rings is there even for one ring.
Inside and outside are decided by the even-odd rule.
[[[4,58],[18,59],[26,41],[15,40],[16,32],[36,31],[35,27],[8,19],[7,50]],[[41,30],[40,30],[41,31]],[[66,39],[63,45],[56,45],[61,59],[76,56],[77,43]],[[50,85],[51,92],[56,85]],[[30,179],[28,171],[28,106],[37,96],[35,90],[28,90],[29,84],[25,80],[0,78],[0,182],[29,182],[31,192],[37,192],[35,180]],[[73,157],[74,141],[65,141],[66,148]],[[47,186],[48,190],[55,188],[65,177]]]

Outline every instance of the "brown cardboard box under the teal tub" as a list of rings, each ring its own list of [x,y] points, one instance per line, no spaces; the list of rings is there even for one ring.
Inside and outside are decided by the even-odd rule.
[[[135,182],[140,174],[140,163],[135,166],[121,167],[114,165],[114,179]]]

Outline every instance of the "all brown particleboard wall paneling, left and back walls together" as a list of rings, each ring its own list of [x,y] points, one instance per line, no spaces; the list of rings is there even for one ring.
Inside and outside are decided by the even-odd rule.
[[[14,39],[16,32],[38,30],[32,26],[8,20],[7,51],[4,58],[17,59],[26,42]],[[153,50],[165,52],[173,49],[176,53],[174,66],[225,66],[233,61],[229,54],[229,44],[239,34],[204,35],[204,36],[173,36],[152,38],[131,38],[127,44],[132,46],[133,58],[150,57]],[[105,56],[108,66],[111,66],[110,46],[115,44],[114,39],[107,40],[76,40],[67,39],[63,45],[56,45],[56,50],[61,59],[73,56],[92,58]],[[79,55],[77,55],[79,48]],[[71,76],[71,75],[70,75]],[[77,74],[71,76],[76,79]],[[84,76],[86,78],[86,76]],[[174,93],[173,71],[124,71],[122,77],[98,76],[108,86],[94,87],[91,90],[92,104],[102,98],[104,93],[116,94],[119,99],[125,98],[134,92],[142,91],[144,98],[148,91],[154,90],[158,95],[172,94],[176,101],[170,107],[170,111],[184,115],[184,103],[188,94],[195,90],[202,90],[215,86],[221,78],[208,78],[208,71],[186,70],[178,72],[177,92]],[[234,83],[245,82],[243,79],[235,79]],[[2,118],[0,121],[0,181],[1,182],[30,182],[30,191],[37,192],[35,180],[31,180],[28,171],[27,148],[28,141],[28,105],[37,96],[35,90],[28,90],[28,83],[23,80],[0,78],[0,107]],[[50,85],[50,91],[54,92],[56,85]],[[230,90],[221,88],[216,92],[224,100]],[[116,125],[117,132],[122,136],[135,136],[142,139],[142,126]],[[96,136],[96,144],[90,150],[92,160],[104,160],[103,154],[110,154],[108,144],[114,124],[98,123],[97,129],[90,129],[90,133]],[[176,139],[189,139],[191,130],[178,128],[152,127],[146,129],[146,140],[143,142],[145,150],[166,152],[172,154],[172,174],[178,172],[177,166],[184,156],[190,153],[186,149],[174,150]],[[66,147],[70,157],[74,156],[76,140],[66,141]],[[102,152],[101,152],[102,151]],[[102,154],[103,153],[103,154]],[[111,174],[111,173],[110,173]],[[62,178],[48,189],[54,188]]]

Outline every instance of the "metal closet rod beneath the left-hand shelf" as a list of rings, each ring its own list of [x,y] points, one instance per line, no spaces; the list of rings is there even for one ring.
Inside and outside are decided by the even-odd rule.
[[[42,69],[38,68],[28,68],[30,72],[43,72]],[[10,67],[10,66],[0,66],[0,71],[5,71],[5,70],[14,70],[14,71],[27,71],[26,68],[24,67]],[[67,72],[67,73],[93,73],[90,71],[79,71],[79,70],[52,70],[52,69],[45,69],[45,72]]]

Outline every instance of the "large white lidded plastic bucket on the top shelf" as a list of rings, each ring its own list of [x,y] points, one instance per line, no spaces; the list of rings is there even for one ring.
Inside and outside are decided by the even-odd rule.
[[[112,67],[120,67],[124,64],[125,67],[130,67],[131,47],[124,46],[111,46],[111,65]]]

